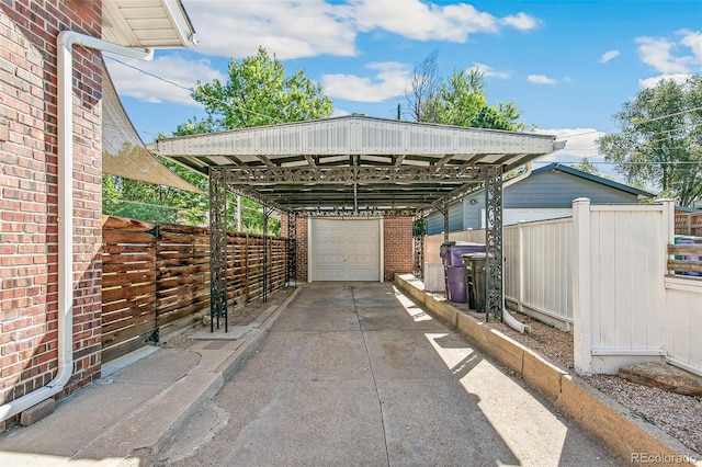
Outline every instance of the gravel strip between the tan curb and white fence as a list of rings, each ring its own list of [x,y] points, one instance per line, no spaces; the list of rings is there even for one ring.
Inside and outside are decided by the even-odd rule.
[[[531,326],[531,334],[520,334],[502,322],[489,324],[556,366],[574,373],[571,333],[532,321],[523,315],[513,316]],[[638,385],[614,375],[585,376],[582,379],[631,410],[635,417],[679,440],[698,458],[702,458],[701,398]]]

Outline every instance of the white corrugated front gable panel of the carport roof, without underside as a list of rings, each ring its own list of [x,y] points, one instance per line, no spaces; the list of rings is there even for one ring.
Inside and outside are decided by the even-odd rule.
[[[427,125],[370,117],[339,117],[246,128],[158,141],[162,153],[265,155],[545,155],[555,137]]]

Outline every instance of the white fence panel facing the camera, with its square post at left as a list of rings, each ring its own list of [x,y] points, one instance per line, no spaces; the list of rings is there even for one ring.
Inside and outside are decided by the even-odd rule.
[[[575,366],[616,373],[665,355],[664,278],[672,205],[574,202]]]

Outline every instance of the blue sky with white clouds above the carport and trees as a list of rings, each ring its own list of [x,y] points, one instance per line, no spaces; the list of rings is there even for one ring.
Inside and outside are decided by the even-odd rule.
[[[478,67],[491,104],[567,139],[550,160],[599,162],[612,115],[661,78],[702,73],[702,1],[183,0],[200,44],[152,61],[107,59],[145,143],[204,115],[183,88],[226,80],[230,58],[259,46],[304,70],[337,115],[394,118],[414,66],[438,52],[439,75]],[[162,78],[162,80],[155,77]],[[171,84],[167,81],[176,84]],[[609,166],[600,166],[611,173]]]

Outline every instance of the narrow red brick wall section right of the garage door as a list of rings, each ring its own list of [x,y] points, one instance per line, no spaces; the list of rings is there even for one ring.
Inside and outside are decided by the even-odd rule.
[[[383,276],[393,281],[396,273],[412,271],[412,218],[385,217],[383,219]]]

